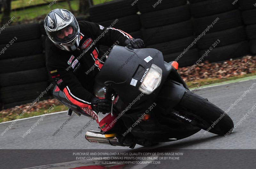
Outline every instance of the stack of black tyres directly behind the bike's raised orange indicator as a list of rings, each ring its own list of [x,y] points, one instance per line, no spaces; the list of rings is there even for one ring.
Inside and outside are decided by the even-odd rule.
[[[191,15],[186,0],[140,0],[140,22],[143,40],[148,48],[155,48],[164,55],[164,61],[176,60],[180,67],[192,65],[198,60]]]

